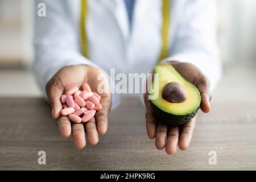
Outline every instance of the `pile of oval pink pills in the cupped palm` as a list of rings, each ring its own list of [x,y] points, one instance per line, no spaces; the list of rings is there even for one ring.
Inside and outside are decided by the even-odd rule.
[[[101,96],[92,92],[87,83],[82,84],[82,90],[77,86],[67,90],[60,99],[63,104],[60,114],[68,116],[75,123],[89,121],[98,110],[102,109]]]

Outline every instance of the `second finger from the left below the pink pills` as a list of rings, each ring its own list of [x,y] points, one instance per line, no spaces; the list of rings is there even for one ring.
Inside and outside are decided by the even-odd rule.
[[[77,149],[85,147],[85,132],[83,123],[74,123],[72,125],[73,142]]]

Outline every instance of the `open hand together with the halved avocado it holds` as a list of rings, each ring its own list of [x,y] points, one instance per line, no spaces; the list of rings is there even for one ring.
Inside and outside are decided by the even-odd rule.
[[[144,97],[147,134],[155,138],[156,148],[175,154],[178,146],[188,148],[199,107],[204,113],[210,111],[209,80],[191,63],[165,62],[155,72],[159,73],[159,88],[152,89],[159,97],[148,100],[148,93]]]

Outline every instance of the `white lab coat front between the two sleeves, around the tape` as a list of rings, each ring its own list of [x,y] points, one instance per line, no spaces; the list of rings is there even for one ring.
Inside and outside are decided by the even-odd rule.
[[[89,58],[106,72],[150,72],[157,63],[162,46],[162,1],[137,0],[133,9],[133,20],[129,18],[124,1],[87,0]],[[171,10],[175,10],[172,0]],[[67,0],[77,36],[80,39],[80,0]],[[175,19],[171,12],[169,46],[173,42]],[[129,30],[131,26],[131,30]]]

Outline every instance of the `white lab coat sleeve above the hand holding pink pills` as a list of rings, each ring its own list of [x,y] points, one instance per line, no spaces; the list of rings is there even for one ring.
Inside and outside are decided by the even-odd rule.
[[[46,5],[46,16],[38,16],[38,5]],[[46,96],[46,84],[61,68],[68,65],[98,65],[81,55],[77,26],[72,20],[63,0],[41,0],[35,2],[35,57],[33,69],[36,80]],[[116,95],[112,97],[113,106],[117,104]]]

